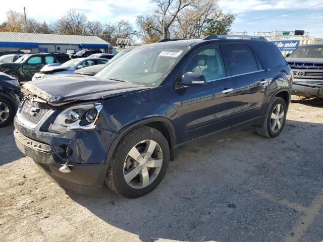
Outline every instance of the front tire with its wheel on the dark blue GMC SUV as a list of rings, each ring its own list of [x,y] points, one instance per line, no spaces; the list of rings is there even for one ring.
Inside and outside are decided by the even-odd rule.
[[[143,162],[145,154],[150,154],[150,146],[154,147],[152,154],[147,155],[150,159]],[[129,154],[137,154],[137,158],[133,159]],[[164,178],[169,160],[170,149],[163,134],[147,126],[136,128],[117,146],[105,176],[105,183],[112,191],[127,198],[144,196],[153,191]],[[131,179],[138,170],[139,173]]]

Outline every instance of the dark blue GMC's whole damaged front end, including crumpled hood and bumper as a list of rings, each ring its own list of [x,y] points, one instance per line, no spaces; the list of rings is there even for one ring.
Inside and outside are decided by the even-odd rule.
[[[26,83],[14,120],[18,148],[62,187],[96,193],[118,133],[106,128],[104,99],[149,87],[94,77],[59,76]]]

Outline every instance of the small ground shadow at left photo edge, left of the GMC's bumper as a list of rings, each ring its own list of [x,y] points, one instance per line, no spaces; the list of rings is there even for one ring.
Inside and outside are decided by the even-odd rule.
[[[16,146],[13,135],[14,130],[13,124],[0,128],[0,165],[10,163],[25,156]]]

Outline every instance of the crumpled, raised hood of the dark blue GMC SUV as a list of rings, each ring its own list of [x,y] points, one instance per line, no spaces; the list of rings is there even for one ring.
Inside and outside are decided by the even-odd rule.
[[[78,100],[108,98],[151,88],[133,83],[79,75],[55,75],[27,82],[23,87],[51,105],[63,105]]]

